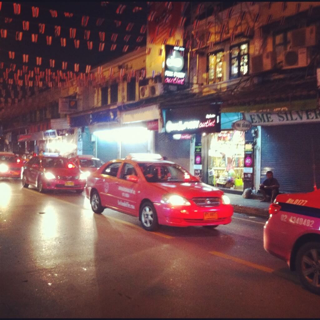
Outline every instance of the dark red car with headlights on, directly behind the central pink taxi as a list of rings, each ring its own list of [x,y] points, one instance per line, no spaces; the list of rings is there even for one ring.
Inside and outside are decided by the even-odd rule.
[[[70,160],[61,156],[35,156],[23,167],[22,185],[45,190],[84,190],[86,177]]]

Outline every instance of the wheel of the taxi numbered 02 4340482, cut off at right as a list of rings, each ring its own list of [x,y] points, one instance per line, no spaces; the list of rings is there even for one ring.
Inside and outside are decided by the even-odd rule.
[[[308,242],[300,247],[296,270],[301,284],[309,291],[320,294],[320,242]]]

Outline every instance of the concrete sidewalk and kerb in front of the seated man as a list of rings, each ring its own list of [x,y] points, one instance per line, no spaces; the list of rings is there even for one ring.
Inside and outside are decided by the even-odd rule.
[[[242,195],[225,192],[225,195],[230,198],[231,204],[234,207],[234,212],[269,217],[268,209],[270,203],[260,202],[258,199],[244,199]],[[257,198],[257,196],[255,196]]]

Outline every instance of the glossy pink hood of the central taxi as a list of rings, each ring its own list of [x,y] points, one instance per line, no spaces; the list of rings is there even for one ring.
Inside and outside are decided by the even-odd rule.
[[[168,193],[174,193],[187,199],[196,197],[220,197],[223,191],[203,182],[164,182],[154,183]]]

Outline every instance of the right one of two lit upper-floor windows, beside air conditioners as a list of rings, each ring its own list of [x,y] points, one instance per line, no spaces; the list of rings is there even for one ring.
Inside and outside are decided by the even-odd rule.
[[[237,78],[249,72],[249,44],[238,44],[230,48],[230,77]]]

